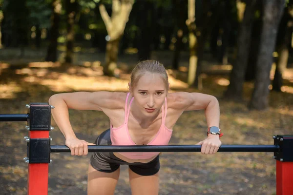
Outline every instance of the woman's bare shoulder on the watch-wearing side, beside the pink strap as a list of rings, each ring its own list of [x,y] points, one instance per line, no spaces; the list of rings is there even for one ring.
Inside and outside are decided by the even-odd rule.
[[[192,104],[192,98],[188,92],[168,93],[167,96],[168,108],[175,110],[185,110]]]

